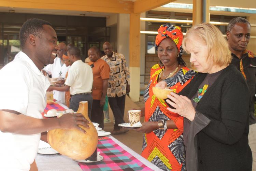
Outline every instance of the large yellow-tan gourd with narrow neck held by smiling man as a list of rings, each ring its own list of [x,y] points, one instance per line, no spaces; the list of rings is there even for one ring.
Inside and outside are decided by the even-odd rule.
[[[82,113],[90,121],[87,101],[80,102],[77,113]],[[89,129],[80,126],[86,133],[82,133],[77,129],[50,130],[47,133],[48,143],[62,155],[76,160],[86,159],[94,153],[98,144],[97,130],[92,122],[90,122],[89,126]]]

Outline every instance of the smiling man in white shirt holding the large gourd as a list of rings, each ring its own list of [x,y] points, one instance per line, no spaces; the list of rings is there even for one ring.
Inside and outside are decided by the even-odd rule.
[[[58,50],[57,35],[51,24],[29,19],[19,36],[22,52],[0,70],[1,171],[37,170],[34,158],[40,137],[47,141],[47,130],[76,128],[85,132],[78,125],[88,128],[88,120],[82,114],[42,119],[50,84],[40,71],[44,65],[53,63],[52,53]]]

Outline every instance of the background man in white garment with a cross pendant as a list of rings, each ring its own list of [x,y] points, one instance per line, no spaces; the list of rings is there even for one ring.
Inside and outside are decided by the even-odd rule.
[[[44,67],[48,75],[52,75],[52,78],[62,78],[65,79],[66,73],[69,70],[70,66],[66,66],[62,60],[63,54],[67,51],[67,46],[65,43],[59,43],[59,50],[57,51],[57,58],[54,59],[53,64],[49,64]],[[59,102],[65,104],[65,92],[53,91],[53,98]]]

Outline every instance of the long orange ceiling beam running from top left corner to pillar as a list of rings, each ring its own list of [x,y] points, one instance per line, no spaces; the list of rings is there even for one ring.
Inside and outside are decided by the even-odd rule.
[[[133,13],[133,2],[125,0],[0,0],[0,6],[102,13]]]

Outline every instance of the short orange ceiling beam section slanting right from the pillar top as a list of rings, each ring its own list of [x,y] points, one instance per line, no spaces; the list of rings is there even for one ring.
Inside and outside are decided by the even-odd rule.
[[[173,1],[175,0],[137,0],[134,2],[133,6],[134,13],[140,14],[146,11],[150,11]]]

